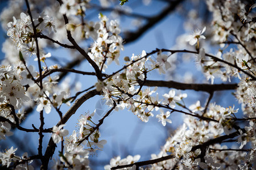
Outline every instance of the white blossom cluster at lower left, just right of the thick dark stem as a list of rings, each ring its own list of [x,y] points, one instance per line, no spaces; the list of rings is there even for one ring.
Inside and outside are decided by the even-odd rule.
[[[100,132],[98,130],[93,131],[92,117],[94,116],[94,111],[91,114],[84,114],[80,116],[79,119],[79,134],[77,137],[77,132],[73,130],[73,133],[65,138],[65,151],[64,154],[57,158],[53,164],[53,168],[75,168],[75,169],[89,169],[89,153],[95,152],[96,150],[101,150],[106,144],[105,140],[99,141]],[[59,127],[53,127],[52,139],[53,142],[59,143],[63,140],[63,137],[68,134],[67,129],[61,129],[65,125],[60,125]],[[91,133],[93,131],[93,133]],[[90,134],[89,139],[86,136]],[[85,148],[84,146],[88,148]],[[60,161],[59,161],[60,160]],[[64,164],[63,164],[64,163]]]

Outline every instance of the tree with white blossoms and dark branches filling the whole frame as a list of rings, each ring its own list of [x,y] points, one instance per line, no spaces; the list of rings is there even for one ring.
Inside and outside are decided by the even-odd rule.
[[[12,146],[0,152],[1,166],[9,169],[90,169],[90,154],[104,150],[106,144],[100,133],[104,120],[113,111],[127,109],[143,122],[155,117],[162,126],[174,121],[172,113],[180,113],[183,125],[166,140],[158,154],[152,153],[150,160],[139,160],[140,155],[127,155],[123,159],[117,156],[109,158],[105,169],[255,169],[256,4],[238,0],[205,2],[207,11],[212,14],[207,25],[197,17],[198,11],[190,7],[186,27],[193,28],[194,32],[177,37],[175,46],[158,46],[147,52],[141,49],[141,54],[131,57],[121,55],[126,44],[189,2],[163,1],[166,7],[152,17],[127,10],[132,2],[123,0],[8,2],[1,14],[2,27],[7,29],[9,39],[3,44],[5,58],[0,67],[0,139],[1,142],[6,140],[14,130],[15,133],[37,133],[39,139],[38,147],[33,148],[35,155],[26,152],[17,155],[15,152],[19,148]],[[115,3],[117,6],[112,8]],[[97,21],[90,20],[87,15],[94,8],[101,11]],[[108,10],[119,18],[127,15],[137,22],[138,19],[144,21],[137,31],[124,33],[118,20],[104,15]],[[60,66],[63,58],[49,65],[52,58],[47,52],[49,48],[71,50],[73,58],[66,66]],[[178,57],[196,58],[197,67],[210,83],[195,83],[188,78],[183,82],[151,79],[155,70],[171,78],[176,67],[183,63]],[[31,64],[32,60],[36,65]],[[86,60],[83,70],[73,69],[83,60]],[[117,66],[119,60],[125,64]],[[111,67],[113,72],[109,71]],[[74,92],[73,88],[79,84],[75,87],[63,85],[63,78],[68,74],[84,75],[84,79],[94,76],[95,81],[92,86]],[[214,83],[216,79],[222,83]],[[237,83],[229,83],[231,81]],[[171,89],[160,95],[162,87]],[[209,97],[205,104],[199,100],[188,102],[191,96],[184,90],[207,92]],[[227,90],[233,90],[233,97],[240,105],[224,107],[212,101],[216,91]],[[93,121],[97,111],[86,113],[78,120],[79,130],[70,133],[65,129],[77,109],[99,95],[109,107],[101,119]],[[39,114],[39,126],[32,124],[31,129],[24,128],[23,122],[33,110]],[[45,116],[53,113],[59,115],[59,122],[47,127]],[[241,118],[238,118],[239,113],[243,114]],[[47,134],[51,134],[49,138]],[[232,148],[226,145],[227,142],[232,143]],[[58,151],[50,167],[49,162]],[[35,160],[40,160],[37,167],[32,164]]]

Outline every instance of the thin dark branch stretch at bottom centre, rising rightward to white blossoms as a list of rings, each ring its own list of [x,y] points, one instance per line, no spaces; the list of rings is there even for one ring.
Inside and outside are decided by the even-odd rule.
[[[136,167],[142,167],[144,165],[155,164],[155,163],[159,163],[164,160],[168,160],[168,159],[172,159],[172,158],[175,158],[175,156],[174,155],[162,156],[161,158],[158,158],[158,159],[146,160],[146,161],[137,162],[137,163],[133,163],[133,164],[127,164],[127,165],[118,165],[117,167],[112,167],[111,169],[128,168],[128,167],[133,167],[133,165],[136,165]]]

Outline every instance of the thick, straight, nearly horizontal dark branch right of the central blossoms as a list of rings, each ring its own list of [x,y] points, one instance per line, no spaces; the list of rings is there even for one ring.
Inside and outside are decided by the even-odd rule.
[[[195,91],[205,91],[208,93],[212,93],[214,91],[222,91],[222,90],[234,90],[238,86],[237,84],[187,84],[180,83],[175,81],[162,81],[162,80],[147,80],[144,83],[145,86],[158,86],[158,87],[168,87],[168,88],[176,88],[179,90],[195,90]]]

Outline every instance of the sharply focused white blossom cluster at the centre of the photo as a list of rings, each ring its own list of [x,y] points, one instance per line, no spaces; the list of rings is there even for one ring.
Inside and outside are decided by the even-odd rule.
[[[164,94],[163,98],[159,100],[158,94],[152,96],[157,90],[150,88],[142,89],[140,83],[146,79],[148,71],[158,69],[159,73],[165,73],[171,67],[167,61],[167,55],[160,52],[158,54],[157,62],[153,61],[150,56],[147,57],[146,52],[143,50],[141,56],[131,56],[129,62],[126,63],[126,68],[123,73],[117,73],[109,77],[104,82],[97,82],[96,88],[98,91],[104,93],[106,104],[113,107],[114,103],[118,103],[115,110],[129,109],[137,115],[143,122],[147,122],[149,117],[154,117],[152,113],[154,110],[159,110],[159,105],[168,105],[170,108],[175,108],[176,102],[185,98],[186,94],[175,96],[175,90],[171,90],[169,94]],[[146,67],[147,61],[151,61],[151,65]],[[162,101],[162,102],[161,102]],[[156,116],[163,126],[166,122],[171,123],[168,119],[170,112],[164,112],[160,109],[160,114]]]

